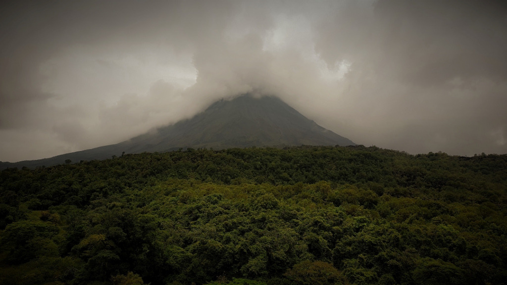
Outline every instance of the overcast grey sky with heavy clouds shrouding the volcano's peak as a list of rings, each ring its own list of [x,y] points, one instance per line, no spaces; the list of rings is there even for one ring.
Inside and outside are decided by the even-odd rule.
[[[357,144],[507,153],[507,2],[3,1],[0,160],[279,96]]]

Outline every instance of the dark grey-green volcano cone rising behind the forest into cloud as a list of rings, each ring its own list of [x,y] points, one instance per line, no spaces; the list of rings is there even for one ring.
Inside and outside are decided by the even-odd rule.
[[[351,140],[307,119],[277,97],[242,95],[220,100],[191,119],[161,127],[116,145],[68,153],[47,159],[2,163],[6,167],[36,167],[111,158],[123,152],[165,152],[179,148],[244,148],[283,146],[350,146]]]

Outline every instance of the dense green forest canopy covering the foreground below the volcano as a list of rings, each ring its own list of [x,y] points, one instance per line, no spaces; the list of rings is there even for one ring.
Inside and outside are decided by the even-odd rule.
[[[125,155],[0,175],[1,284],[505,284],[507,155]]]

